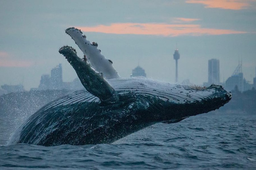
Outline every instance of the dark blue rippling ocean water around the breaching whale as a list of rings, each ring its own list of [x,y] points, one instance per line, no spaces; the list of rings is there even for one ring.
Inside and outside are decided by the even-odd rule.
[[[27,115],[28,116],[28,115]],[[113,144],[7,145],[25,117],[0,118],[0,169],[256,169],[256,115],[191,116],[154,124]]]

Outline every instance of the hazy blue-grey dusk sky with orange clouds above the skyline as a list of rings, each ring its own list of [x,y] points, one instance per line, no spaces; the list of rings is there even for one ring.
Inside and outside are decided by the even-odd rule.
[[[208,60],[219,59],[220,81],[242,61],[250,83],[256,67],[256,0],[10,0],[0,1],[0,85],[37,88],[41,75],[62,64],[63,81],[75,70],[58,50],[82,52],[65,33],[77,27],[121,77],[140,65],[147,77],[196,85],[208,81]]]

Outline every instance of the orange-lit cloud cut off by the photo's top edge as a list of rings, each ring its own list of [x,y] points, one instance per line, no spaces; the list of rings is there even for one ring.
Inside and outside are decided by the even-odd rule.
[[[206,8],[239,10],[248,8],[250,6],[249,1],[250,0],[187,0],[186,3],[203,4]]]

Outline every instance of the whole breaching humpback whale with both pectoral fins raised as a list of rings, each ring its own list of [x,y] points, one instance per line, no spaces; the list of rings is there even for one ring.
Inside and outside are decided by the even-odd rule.
[[[186,86],[142,77],[120,78],[97,43],[74,27],[66,33],[83,51],[63,46],[59,53],[75,69],[85,89],[52,101],[34,113],[10,143],[56,146],[113,143],[155,123],[176,123],[219,109],[232,95],[221,85]]]

